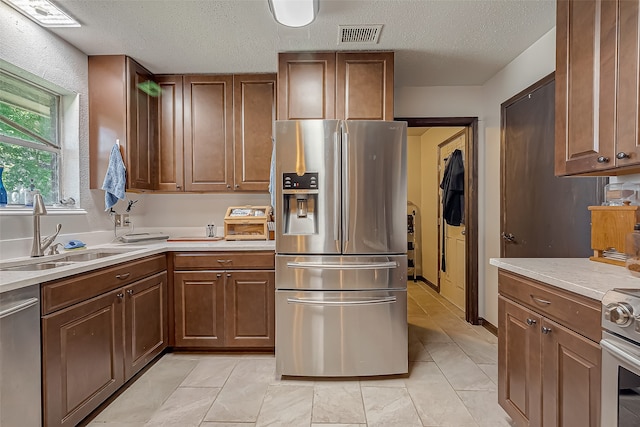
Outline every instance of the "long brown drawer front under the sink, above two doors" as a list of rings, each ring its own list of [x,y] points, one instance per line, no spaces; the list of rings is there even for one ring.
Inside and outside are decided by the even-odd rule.
[[[44,283],[41,287],[42,314],[60,310],[166,269],[166,256],[154,255]]]

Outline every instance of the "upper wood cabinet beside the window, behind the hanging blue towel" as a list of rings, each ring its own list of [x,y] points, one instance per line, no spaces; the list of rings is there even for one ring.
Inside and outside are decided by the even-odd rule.
[[[90,188],[102,187],[119,140],[127,189],[153,189],[157,98],[139,88],[153,75],[124,55],[90,56],[88,64]]]

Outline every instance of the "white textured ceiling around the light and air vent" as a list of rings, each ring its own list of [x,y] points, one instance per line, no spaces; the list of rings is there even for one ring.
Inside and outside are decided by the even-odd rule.
[[[89,55],[151,72],[275,72],[277,53],[393,50],[396,86],[480,85],[555,25],[555,0],[319,0],[304,28],[267,0],[58,0],[82,23],[53,29]],[[339,25],[384,24],[378,44],[338,45]]]

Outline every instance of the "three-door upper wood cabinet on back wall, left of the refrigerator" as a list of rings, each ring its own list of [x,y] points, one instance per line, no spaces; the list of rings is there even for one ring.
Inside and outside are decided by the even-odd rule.
[[[275,74],[158,76],[161,191],[267,191]]]

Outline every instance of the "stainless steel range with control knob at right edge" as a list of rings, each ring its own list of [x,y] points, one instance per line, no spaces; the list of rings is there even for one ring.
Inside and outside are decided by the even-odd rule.
[[[640,426],[640,289],[602,299],[602,426]]]

